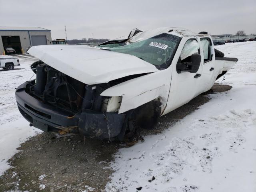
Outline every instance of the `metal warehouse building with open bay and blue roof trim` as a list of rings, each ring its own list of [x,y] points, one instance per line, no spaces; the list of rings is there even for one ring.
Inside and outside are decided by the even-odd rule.
[[[0,54],[12,47],[16,53],[25,53],[29,46],[47,45],[52,41],[51,30],[41,27],[1,27]]]

